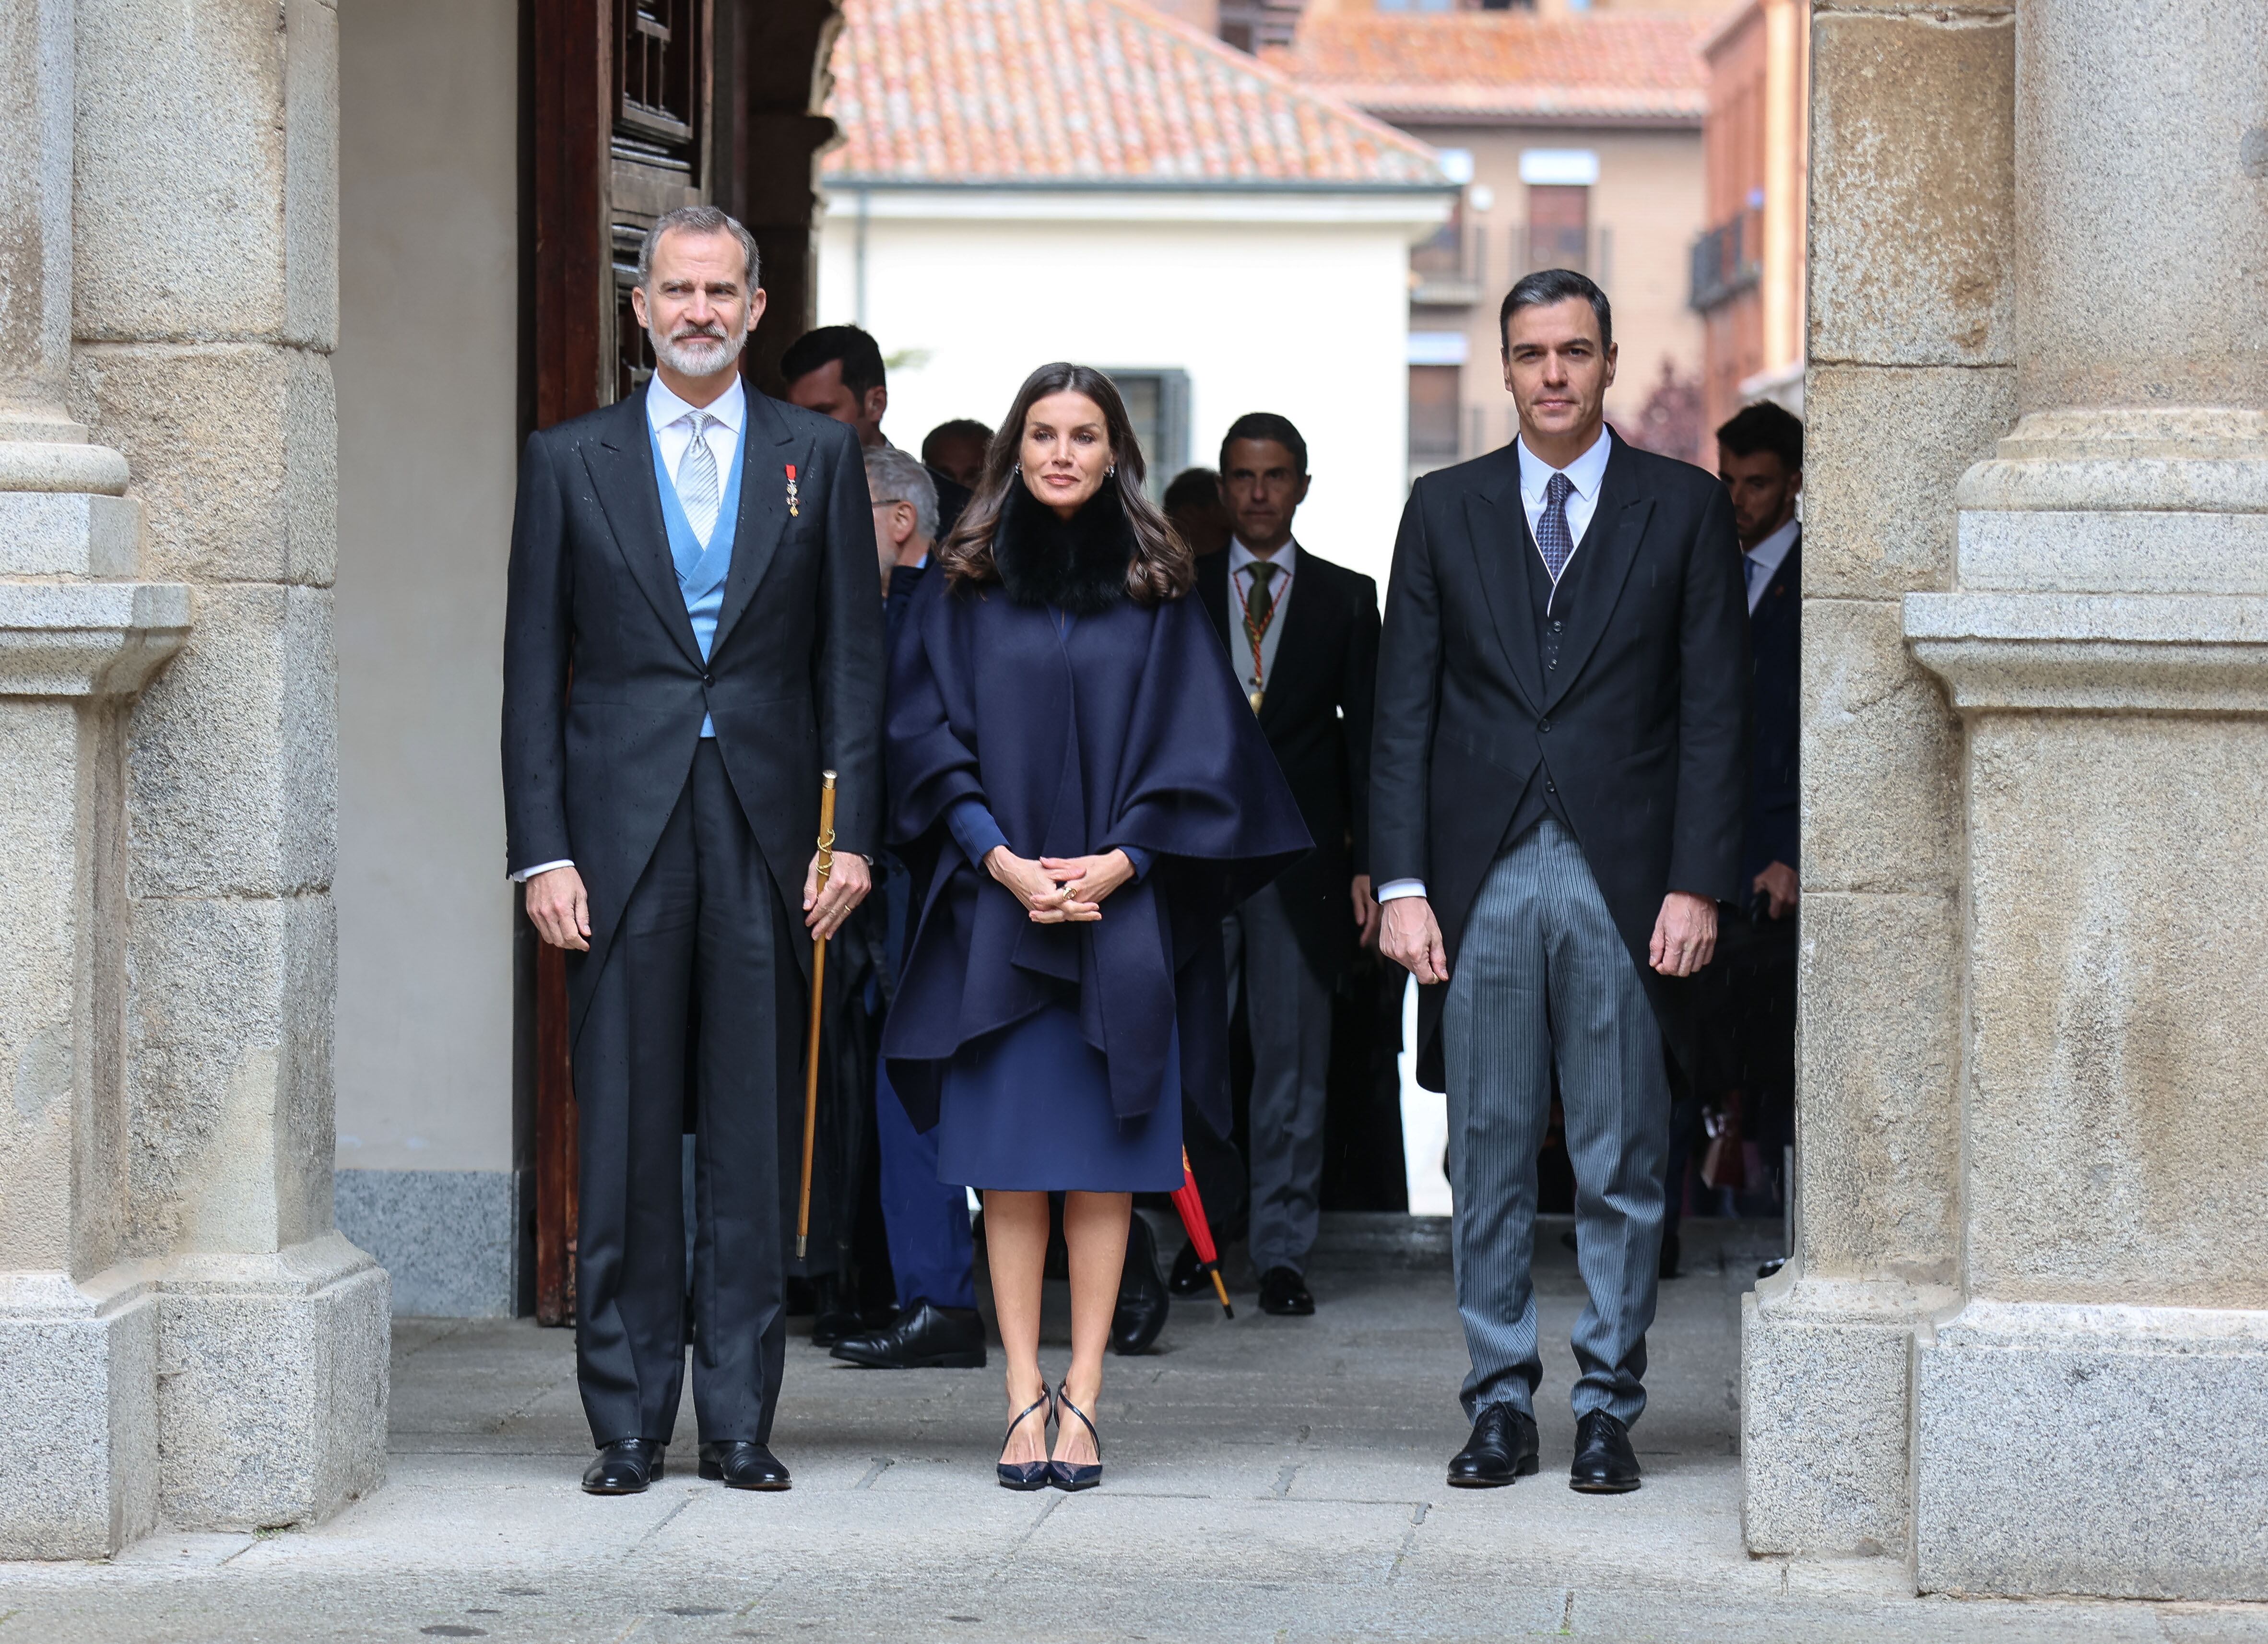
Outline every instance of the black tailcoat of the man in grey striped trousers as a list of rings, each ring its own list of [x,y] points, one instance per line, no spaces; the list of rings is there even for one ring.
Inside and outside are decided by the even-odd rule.
[[[1749,601],[1724,483],[1615,438],[1558,667],[1545,669],[1520,449],[1427,474],[1395,542],[1370,753],[1370,871],[1424,880],[1458,941],[1531,780],[1551,782],[1656,1018],[1647,964],[1669,891],[1740,900],[1749,800]],[[1588,562],[1585,562],[1588,558]],[[1442,1088],[1445,986],[1420,989],[1417,1077]]]

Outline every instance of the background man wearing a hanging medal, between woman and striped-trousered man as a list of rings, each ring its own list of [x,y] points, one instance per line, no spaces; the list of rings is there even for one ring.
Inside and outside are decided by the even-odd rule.
[[[1379,585],[1293,537],[1306,440],[1250,413],[1220,442],[1227,553],[1198,560],[1198,601],[1290,782],[1315,850],[1229,914],[1229,980],[1252,1039],[1252,1265],[1261,1311],[1306,1315],[1306,1254],[1322,1188],[1331,991],[1374,932],[1368,796]],[[1184,1288],[1195,1252],[1182,1254]]]

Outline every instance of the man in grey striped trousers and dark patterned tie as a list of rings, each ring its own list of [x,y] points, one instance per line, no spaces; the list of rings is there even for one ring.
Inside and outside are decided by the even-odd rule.
[[[1603,422],[1615,322],[1583,274],[1504,299],[1510,449],[1427,474],[1395,542],[1372,742],[1381,950],[1449,1091],[1472,1440],[1535,1472],[1535,1152],[1558,1073],[1576,1177],[1576,1490],[1637,1488],[1662,1229],[1672,977],[1710,959],[1746,798],[1746,621],[1724,485]],[[1442,1077],[1447,1075],[1447,1084]]]

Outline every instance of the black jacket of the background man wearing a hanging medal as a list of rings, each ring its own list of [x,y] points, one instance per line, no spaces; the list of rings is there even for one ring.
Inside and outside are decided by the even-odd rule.
[[[1370,873],[1370,698],[1379,673],[1379,585],[1304,546],[1293,560],[1290,603],[1277,621],[1275,673],[1261,698],[1261,732],[1275,748],[1315,850],[1277,880],[1300,952],[1325,982],[1354,959],[1356,873]],[[1243,608],[1229,594],[1229,556],[1198,560],[1198,601],[1229,649],[1238,680],[1252,678]]]

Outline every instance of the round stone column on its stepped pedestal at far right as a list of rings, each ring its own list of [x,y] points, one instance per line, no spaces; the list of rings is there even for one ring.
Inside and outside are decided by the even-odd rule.
[[[1905,637],[1966,730],[1923,1590],[2268,1599],[2268,9],[2019,0],[2021,422]]]

